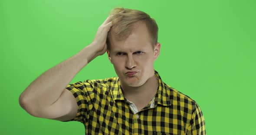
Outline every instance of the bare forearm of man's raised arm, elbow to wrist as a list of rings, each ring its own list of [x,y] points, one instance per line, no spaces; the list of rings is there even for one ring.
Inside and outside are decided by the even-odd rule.
[[[93,45],[87,45],[71,58],[36,78],[20,95],[23,106],[47,107],[58,100],[75,75],[97,57]]]

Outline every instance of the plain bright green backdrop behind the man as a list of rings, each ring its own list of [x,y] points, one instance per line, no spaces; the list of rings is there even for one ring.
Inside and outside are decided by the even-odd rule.
[[[84,135],[80,122],[36,118],[18,102],[39,75],[89,45],[115,7],[156,19],[164,82],[197,101],[208,135],[255,133],[254,0],[0,0],[1,135]],[[104,66],[100,66],[104,65]],[[75,65],[74,65],[75,66]],[[71,81],[116,76],[104,54]]]

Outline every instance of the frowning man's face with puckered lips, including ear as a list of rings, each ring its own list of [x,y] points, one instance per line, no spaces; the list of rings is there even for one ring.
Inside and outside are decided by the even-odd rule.
[[[111,33],[112,34],[112,33]],[[160,43],[151,45],[150,35],[144,23],[135,23],[135,30],[124,41],[116,41],[111,36],[110,53],[108,58],[114,65],[115,72],[122,84],[131,87],[143,85],[154,75],[154,61],[160,53]],[[128,71],[137,72],[135,75]]]

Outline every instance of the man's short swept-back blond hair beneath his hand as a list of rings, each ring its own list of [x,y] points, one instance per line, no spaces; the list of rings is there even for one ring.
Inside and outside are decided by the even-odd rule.
[[[123,13],[119,13],[122,10],[125,10]],[[107,35],[107,49],[110,51],[110,37],[115,36],[115,39],[118,41],[125,40],[131,34],[133,30],[133,24],[142,21],[145,23],[146,27],[148,28],[149,35],[151,36],[151,44],[152,48],[154,49],[154,45],[158,42],[158,25],[155,19],[151,18],[147,13],[144,13],[139,10],[132,10],[123,7],[117,7],[111,10],[110,15],[111,21],[120,17],[121,20],[118,23],[112,25],[112,28],[116,28],[117,30],[114,32],[115,34],[110,34],[112,28],[109,30]]]

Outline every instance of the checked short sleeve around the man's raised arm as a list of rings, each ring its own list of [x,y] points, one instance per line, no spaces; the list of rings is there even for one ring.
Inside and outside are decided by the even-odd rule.
[[[93,85],[89,83],[88,80],[85,80],[84,82],[79,81],[69,84],[66,86],[66,89],[69,90],[75,97],[78,111],[74,119],[62,122],[78,121],[85,123],[86,115],[89,114],[90,110],[89,106],[92,104],[91,100],[93,98]]]

